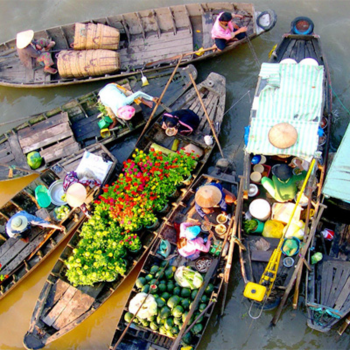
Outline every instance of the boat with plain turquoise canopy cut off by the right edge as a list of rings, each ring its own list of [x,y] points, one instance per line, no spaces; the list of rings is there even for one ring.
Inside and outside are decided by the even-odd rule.
[[[306,276],[307,325],[319,332],[328,332],[350,313],[349,144],[348,127],[327,172],[322,189],[327,209],[308,259],[312,262],[316,252],[323,254],[321,261],[311,264]],[[327,230],[333,231],[334,237],[332,232],[327,237]]]

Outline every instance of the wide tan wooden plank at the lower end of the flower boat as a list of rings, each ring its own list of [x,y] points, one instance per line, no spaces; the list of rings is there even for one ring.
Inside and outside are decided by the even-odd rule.
[[[88,311],[94,301],[95,298],[82,293],[80,290],[76,290],[74,297],[70,300],[69,304],[52,324],[52,327],[60,330],[61,328],[67,326],[69,323],[73,322],[83,313]]]

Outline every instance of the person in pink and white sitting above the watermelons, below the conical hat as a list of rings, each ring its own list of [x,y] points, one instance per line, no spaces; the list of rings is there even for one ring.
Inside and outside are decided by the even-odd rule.
[[[213,232],[209,234],[206,243],[202,237],[197,237],[200,232],[201,229],[196,223],[183,222],[180,225],[180,238],[176,244],[181,256],[195,260],[201,252],[209,252]]]

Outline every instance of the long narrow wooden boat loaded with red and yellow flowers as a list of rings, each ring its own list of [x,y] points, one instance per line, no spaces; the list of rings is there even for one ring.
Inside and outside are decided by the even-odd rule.
[[[209,116],[217,126],[217,132],[220,132],[220,126],[224,116],[224,107],[226,99],[226,81],[219,74],[211,73],[201,84],[198,84],[198,91],[201,94],[203,103],[209,113]],[[215,142],[208,146],[204,142],[204,136],[208,134],[210,127],[200,110],[200,102],[195,89],[192,88],[182,98],[171,106],[172,110],[179,108],[190,108],[194,110],[201,118],[201,124],[193,135],[175,137],[165,136],[164,130],[158,121],[145,133],[141,139],[138,148],[145,153],[154,147],[161,146],[164,149],[171,149],[174,140],[179,141],[178,147],[195,145],[203,151],[203,155],[198,159],[197,165],[192,172],[192,178],[184,184],[190,186],[203,166],[208,161],[212,153]],[[153,146],[152,146],[153,145]],[[132,157],[130,157],[132,159]],[[111,182],[116,181],[117,178]],[[182,189],[184,191],[184,188]],[[175,191],[169,198],[170,202],[179,202],[183,194],[181,191]],[[170,208],[170,206],[168,206]],[[172,211],[159,213],[159,221],[166,219]],[[95,283],[93,286],[74,287],[67,279],[67,266],[65,261],[73,255],[73,250],[77,247],[82,237],[81,229],[74,234],[67,247],[61,254],[61,257],[53,267],[52,272],[47,278],[43,290],[39,296],[38,302],[34,308],[33,316],[30,322],[30,328],[24,337],[24,345],[28,349],[39,349],[55,339],[66,334],[88,316],[94,313],[124,282],[138,262],[146,256],[148,249],[153,244],[159,234],[159,228],[142,229],[137,235],[141,238],[142,248],[133,255],[128,255],[127,269],[123,275],[119,274],[112,282]]]

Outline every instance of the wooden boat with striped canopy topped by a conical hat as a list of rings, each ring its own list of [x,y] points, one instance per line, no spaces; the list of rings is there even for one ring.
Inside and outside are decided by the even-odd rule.
[[[306,25],[305,25],[306,28],[308,28],[307,26],[308,23],[312,23],[309,19],[306,19],[303,21],[304,21],[304,24],[306,22]],[[331,117],[332,117],[330,75],[329,75],[326,58],[320,44],[320,38],[318,35],[313,34],[313,24],[312,24],[311,31],[307,34],[295,34],[295,31],[293,29],[295,28],[294,27],[295,25],[296,25],[295,21],[292,22],[291,32],[283,36],[282,41],[277,46],[275,51],[272,53],[269,63],[263,64],[261,72],[259,74],[259,80],[255,91],[254,103],[250,114],[250,133],[248,136],[248,145],[246,148],[245,159],[244,159],[245,198],[242,203],[242,208],[243,208],[242,216],[244,215],[244,213],[247,213],[249,211],[250,204],[252,203],[253,200],[257,198],[261,198],[266,200],[270,205],[270,214],[264,219],[262,219],[261,221],[265,221],[266,219],[270,220],[271,211],[273,213],[273,218],[277,220],[282,220],[282,218],[278,216],[276,213],[278,212],[277,210],[278,206],[280,205],[284,206],[285,203],[276,204],[276,200],[272,197],[272,195],[267,193],[267,191],[261,185],[260,182],[255,183],[255,185],[258,186],[258,190],[260,191],[260,194],[258,193],[257,195],[256,193],[249,192],[250,184],[254,184],[250,178],[250,175],[252,171],[255,171],[254,167],[256,166],[252,164],[252,162],[255,163],[253,160],[254,154],[259,156],[260,155],[264,156],[262,157],[263,164],[260,164],[260,166],[263,167],[262,176],[269,176],[271,167],[273,167],[276,164],[283,164],[283,163],[290,164],[291,159],[293,157],[299,157],[300,159],[306,159],[308,157],[309,161],[313,157],[315,158],[318,157],[319,164],[318,166],[317,165],[315,166],[315,169],[311,174],[311,177],[309,180],[310,182],[307,187],[307,191],[305,191],[305,195],[307,196],[305,207],[301,208],[302,209],[301,214],[299,212],[299,216],[303,218],[306,227],[310,227],[310,232],[311,232],[310,235],[311,235],[311,234],[314,234],[315,228],[317,226],[316,221],[317,221],[317,214],[319,212],[319,206],[320,206],[321,188],[324,181],[325,164],[328,156],[327,145],[328,145],[328,139],[329,139],[329,133],[330,133],[329,128],[331,125]],[[291,62],[290,64],[288,64],[288,61],[290,61],[291,59],[295,60],[296,62]],[[306,59],[306,62],[303,61],[304,59]],[[315,65],[315,63],[317,63],[317,67],[310,68],[311,66],[303,66],[304,62],[307,63],[308,61],[310,61],[310,59],[313,60],[312,64]],[[302,63],[300,63],[301,61]],[[281,62],[286,64],[283,65]],[[303,68],[303,67],[306,67],[306,68]],[[285,84],[285,80],[283,79],[285,77],[284,72],[286,70],[288,70],[289,72],[294,72],[293,74],[295,74],[295,72],[297,72],[298,70],[300,72],[301,71],[318,71],[318,74],[319,74],[318,86],[317,87],[314,85],[312,86],[313,89],[315,88],[315,89],[318,89],[319,91],[318,92],[319,99],[317,100],[317,104],[316,104],[317,110],[318,110],[317,112],[318,117],[316,119],[312,118],[312,121],[311,121],[310,113],[306,115],[303,109],[300,108],[298,112],[299,115],[302,115],[302,116],[306,115],[307,118],[309,118],[308,120],[310,122],[307,121],[307,118],[304,118],[303,120],[305,121],[301,122],[302,124],[300,125],[302,126],[299,127],[297,130],[298,132],[297,142],[294,145],[290,146],[289,148],[280,149],[273,146],[268,141],[269,140],[268,133],[274,125],[280,122],[287,122],[295,126],[295,122],[293,121],[293,118],[298,119],[299,116],[297,115],[297,113],[295,113],[295,115],[292,118],[290,118],[290,116],[292,113],[295,112],[295,106],[299,103],[298,101],[300,101],[297,97],[302,96],[304,94],[304,92],[300,91],[301,95],[296,94],[297,97],[295,97],[294,95],[294,97],[291,97],[288,100],[289,103],[287,103],[286,100],[283,100],[283,96],[285,96],[284,90],[283,90],[283,86],[284,86],[283,84]],[[277,73],[280,80],[278,82],[276,81],[272,82],[271,80],[269,80],[270,78],[272,79],[273,76],[269,75],[268,71],[272,75],[274,73]],[[274,77],[276,78],[276,75],[274,75]],[[306,84],[310,84],[311,82],[311,80],[305,80],[304,78],[304,82],[305,81],[306,81]],[[288,83],[288,86],[290,88],[295,88],[295,91],[299,92],[299,89],[301,89],[301,87],[299,86],[299,83],[302,84],[303,82],[300,79],[298,80],[291,79]],[[264,109],[262,105],[259,105],[261,102],[259,98],[261,96],[264,96],[263,95],[264,92],[267,91],[265,87],[267,87],[267,89],[268,88],[275,89],[274,91],[276,92],[276,94],[278,94],[278,98],[276,98],[276,100],[272,104],[270,104],[270,110]],[[280,90],[278,90],[278,88],[276,87],[280,87]],[[310,97],[310,104],[312,104],[311,97]],[[265,111],[270,112],[271,115],[275,113],[276,109],[272,108],[274,106],[277,106],[276,108],[281,108],[282,112],[280,114],[274,114],[270,120],[264,119]],[[328,129],[324,130],[326,136],[323,138],[326,139],[326,142],[322,145],[322,142],[320,142],[321,138],[319,138],[318,136],[318,129],[319,129],[319,125],[323,125],[322,124],[323,118],[328,119]],[[266,124],[265,126],[262,126],[262,123],[264,122],[264,120]],[[258,141],[254,142],[254,140],[255,141],[258,140]],[[303,147],[302,145],[304,143],[308,143],[308,146]],[[311,148],[308,149],[310,145],[312,146]],[[259,162],[259,157],[255,159],[257,159],[257,162]],[[266,159],[266,162],[264,162],[265,159]],[[307,169],[307,167],[305,169]],[[317,184],[318,190],[314,191],[316,184]],[[276,210],[274,210],[274,205],[276,207]],[[272,207],[272,210],[271,210],[271,207]],[[298,210],[296,212],[298,212]],[[311,219],[312,214],[313,214],[313,219]],[[289,215],[284,218],[284,220],[286,219],[287,220],[286,221],[282,220],[284,221],[284,224],[288,223],[289,217],[291,215],[292,215],[292,210],[290,210]],[[290,267],[285,266],[287,265],[287,261],[285,262],[285,264],[283,263],[283,259],[286,257],[285,255],[283,255],[279,261],[278,260],[272,261],[271,260],[272,253],[280,243],[280,239],[271,238],[271,237],[270,238],[261,237],[262,230],[258,232],[260,232],[260,235],[258,235],[257,233],[254,233],[254,231],[250,232],[250,234],[248,234],[249,232],[246,232],[245,230],[242,230],[242,232],[240,232],[242,239],[244,239],[244,245],[246,247],[246,251],[243,251],[240,249],[240,259],[242,263],[242,275],[245,280],[245,283],[254,282],[254,283],[260,284],[261,286],[265,286],[267,290],[268,288],[270,288],[271,285],[273,286],[269,297],[266,299],[267,294],[264,294],[263,295],[264,299],[258,303],[260,305],[259,307],[261,311],[263,309],[261,305],[263,305],[265,309],[273,308],[276,305],[278,305],[278,303],[281,300],[281,297],[285,294],[286,288],[288,287],[289,289],[289,287],[291,287],[292,284],[295,282],[295,275],[293,274],[295,269],[292,267],[293,266],[296,267],[298,265],[300,253],[292,257],[293,261],[291,265],[288,265]],[[282,232],[281,231],[279,232],[281,236]],[[265,234],[266,232],[264,233],[264,235]],[[304,236],[305,246],[309,244],[308,238],[309,236],[305,234]],[[268,266],[269,262],[270,263],[274,262],[275,266],[273,266],[272,268],[273,271],[269,273],[269,276],[266,277],[264,271],[266,271],[265,269]],[[262,282],[262,279],[263,279],[262,276],[266,277],[264,278],[264,280],[267,282]],[[276,278],[276,280],[271,282],[270,277],[271,279]],[[253,298],[251,299],[254,300]],[[259,314],[259,312],[257,312],[257,314]]]

